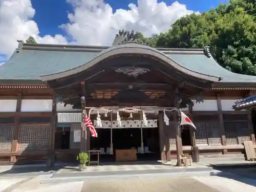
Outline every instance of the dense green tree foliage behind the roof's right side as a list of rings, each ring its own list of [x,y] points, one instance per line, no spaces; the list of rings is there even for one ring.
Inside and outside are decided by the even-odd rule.
[[[147,45],[203,48],[232,72],[256,75],[256,1],[230,0],[202,14],[178,19],[166,33],[144,38]]]

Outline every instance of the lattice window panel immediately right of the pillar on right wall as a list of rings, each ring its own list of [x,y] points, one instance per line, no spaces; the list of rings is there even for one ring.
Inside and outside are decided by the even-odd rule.
[[[224,122],[227,144],[238,144],[236,123],[237,122]]]

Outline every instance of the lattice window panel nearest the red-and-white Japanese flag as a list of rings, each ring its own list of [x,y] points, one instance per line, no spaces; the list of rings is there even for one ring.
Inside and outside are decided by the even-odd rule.
[[[206,124],[205,122],[196,122],[195,123],[197,129],[196,129],[196,144],[203,145],[208,144],[207,143],[207,130],[206,130]]]

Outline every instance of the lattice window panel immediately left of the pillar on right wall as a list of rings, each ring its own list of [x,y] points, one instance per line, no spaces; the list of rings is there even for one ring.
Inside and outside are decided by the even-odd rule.
[[[221,144],[219,122],[206,122],[209,145]]]

